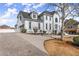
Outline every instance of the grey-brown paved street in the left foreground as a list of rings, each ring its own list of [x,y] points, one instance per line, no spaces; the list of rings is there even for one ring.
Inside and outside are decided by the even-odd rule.
[[[30,36],[31,37],[31,36]],[[17,33],[0,33],[0,56],[44,56],[45,52]],[[30,39],[29,39],[30,40]]]

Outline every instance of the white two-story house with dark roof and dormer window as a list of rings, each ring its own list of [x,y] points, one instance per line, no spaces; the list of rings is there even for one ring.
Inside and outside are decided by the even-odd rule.
[[[27,33],[34,33],[36,27],[37,33],[45,31],[47,34],[58,34],[61,32],[61,19],[57,12],[44,11],[40,15],[32,11],[30,13],[20,11],[17,15],[16,31],[20,32],[24,27]]]

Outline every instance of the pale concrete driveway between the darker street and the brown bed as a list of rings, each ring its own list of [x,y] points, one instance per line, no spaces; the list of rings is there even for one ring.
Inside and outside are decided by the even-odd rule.
[[[51,39],[51,35],[32,35],[26,33],[17,33],[18,36],[22,37],[26,41],[30,42],[32,45],[40,49],[41,51],[47,54],[47,51],[44,48],[44,41]]]

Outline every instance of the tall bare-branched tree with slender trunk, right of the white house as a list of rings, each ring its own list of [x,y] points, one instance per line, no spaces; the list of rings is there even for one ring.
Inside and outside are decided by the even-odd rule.
[[[60,15],[60,19],[62,20],[62,27],[61,27],[61,40],[63,40],[64,38],[64,21],[68,16],[74,16],[77,14],[77,12],[79,11],[79,4],[73,4],[73,3],[50,3],[48,4],[49,6],[55,6],[57,7],[57,10],[59,13],[61,13]]]

